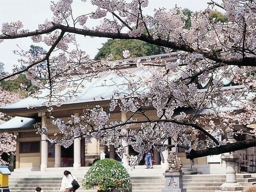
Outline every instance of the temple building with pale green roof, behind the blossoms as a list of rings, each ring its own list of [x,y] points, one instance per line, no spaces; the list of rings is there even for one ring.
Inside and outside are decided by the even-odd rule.
[[[167,61],[175,61],[176,54],[172,57],[168,57],[168,54],[158,55]],[[151,56],[151,58],[156,56]],[[145,59],[142,57],[141,59]],[[145,73],[138,68],[131,68],[136,74]],[[58,144],[51,144],[46,142],[46,135],[36,134],[33,124],[40,122],[42,127],[48,128],[49,137],[54,138],[54,133],[58,133],[58,128],[54,126],[51,121],[54,118],[61,118],[67,120],[71,118],[71,115],[79,116],[86,108],[94,108],[96,105],[106,106],[110,101],[110,98],[114,95],[116,87],[114,86],[102,86],[106,83],[106,80],[112,80],[118,84],[122,84],[122,78],[113,74],[104,74],[102,77],[96,80],[92,80],[86,84],[86,88],[82,89],[77,98],[72,98],[62,104],[60,107],[54,107],[54,112],[48,112],[42,103],[46,100],[35,98],[24,98],[19,102],[10,104],[0,108],[0,111],[11,116],[15,116],[8,122],[0,125],[1,132],[10,132],[16,136],[17,151],[16,151],[16,169],[29,168],[31,170],[45,170],[48,167],[70,167],[73,166],[74,170],[79,169],[81,166],[90,166],[94,160],[100,158],[100,153],[104,152],[106,157],[114,158],[118,161],[122,161],[125,166],[128,166],[128,160],[126,158],[120,158],[112,145],[100,144],[96,139],[92,139],[92,143],[88,144],[84,138],[74,140],[74,143],[69,148],[64,148]],[[224,84],[230,85],[229,80],[225,80]],[[202,89],[206,85],[201,85]],[[228,86],[226,87],[228,89]],[[122,88],[120,88],[122,90]],[[124,90],[125,91],[125,90]],[[32,109],[28,109],[28,105],[35,106]],[[202,112],[203,113],[203,112]],[[149,117],[156,117],[155,110],[148,110],[146,115]],[[129,117],[129,114],[120,112],[120,110],[114,110],[110,116],[110,120],[125,121]],[[142,116],[135,116],[134,118],[142,119]],[[139,128],[136,125],[135,128]],[[248,127],[242,127],[244,131],[247,131]],[[214,133],[213,133],[214,134]],[[58,135],[57,135],[58,136]],[[250,138],[246,134],[236,136],[236,140],[245,140]],[[176,138],[177,139],[177,138]],[[202,138],[203,139],[203,138]],[[222,138],[218,138],[220,141]],[[173,144],[173,140],[166,140],[166,144]],[[175,149],[174,149],[175,150]],[[128,154],[136,154],[136,151],[129,146]],[[238,154],[256,154],[256,147],[248,148],[247,150],[240,150]],[[163,152],[164,158],[167,159],[168,151]],[[190,167],[191,162],[185,157],[183,149],[178,148],[178,156],[181,158],[184,167]],[[218,173],[221,172],[222,160],[221,155],[208,156],[197,158],[194,160],[195,167],[202,173]],[[162,168],[168,166],[168,162],[162,163],[160,160],[160,154],[154,151],[154,158],[156,164],[161,164]],[[255,158],[255,157],[254,157]],[[254,159],[255,160],[255,159]],[[144,160],[140,162],[144,164]],[[255,162],[254,162],[255,164]],[[255,168],[254,168],[255,169]],[[224,169],[223,169],[224,171]],[[255,171],[255,170],[252,170]]]

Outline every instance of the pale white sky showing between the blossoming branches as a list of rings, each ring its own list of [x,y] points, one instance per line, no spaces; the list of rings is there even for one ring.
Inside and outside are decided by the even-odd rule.
[[[55,1],[56,2],[56,1]],[[170,9],[175,6],[188,8],[193,12],[204,10],[207,8],[210,0],[149,0],[149,6],[144,10],[144,14],[152,15],[154,8]],[[221,0],[216,0],[221,3]],[[50,10],[51,0],[0,0],[0,28],[2,23],[20,20],[24,25],[24,29],[30,31],[38,29],[38,24],[44,23],[45,19],[51,20],[53,14]],[[90,4],[90,0],[86,3],[81,0],[73,0],[72,10],[76,16],[84,13],[90,13],[96,10],[96,6]],[[217,9],[218,10],[218,9]],[[219,10],[222,11],[222,10]],[[86,26],[91,28],[100,24],[99,20],[88,20]],[[91,38],[84,36],[76,36],[81,48],[90,55],[91,58],[97,54],[98,49],[107,41],[106,38]],[[34,43],[29,38],[20,38],[15,40],[4,40],[0,43],[0,62],[5,64],[5,70],[11,72],[13,65],[17,65],[18,55],[13,50],[30,49],[30,45],[42,46],[46,51],[50,48],[44,43]]]

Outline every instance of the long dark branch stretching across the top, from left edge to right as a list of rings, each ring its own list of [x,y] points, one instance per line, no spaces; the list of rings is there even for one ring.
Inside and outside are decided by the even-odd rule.
[[[61,24],[54,24],[51,28],[48,28],[46,30],[36,30],[34,32],[28,32],[24,34],[14,34],[14,35],[8,35],[8,36],[0,36],[0,39],[14,39],[14,38],[22,38],[22,37],[28,37],[28,36],[35,36],[39,34],[46,34],[50,33],[56,29],[62,30],[62,32],[70,32],[74,34],[80,34],[84,36],[94,36],[94,37],[105,37],[105,38],[112,38],[112,39],[137,39],[141,40],[150,44],[163,46],[166,48],[172,48],[174,50],[182,50],[186,52],[199,52],[203,54],[206,58],[214,60],[218,63],[223,63],[226,65],[236,65],[236,66],[256,66],[256,57],[244,57],[244,58],[230,58],[230,59],[224,59],[219,58],[219,56],[214,52],[204,52],[201,50],[195,50],[188,45],[185,44],[177,44],[176,42],[171,42],[163,39],[153,39],[150,36],[147,36],[145,34],[141,34],[140,37],[130,37],[129,34],[126,33],[112,33],[112,32],[102,32],[102,31],[94,31],[94,30],[85,30],[85,29],[79,29],[74,28],[70,26],[64,26]]]

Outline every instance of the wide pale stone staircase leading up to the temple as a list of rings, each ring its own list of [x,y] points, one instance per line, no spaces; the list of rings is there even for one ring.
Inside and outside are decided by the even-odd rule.
[[[81,188],[77,192],[96,192],[96,189],[85,190],[82,188],[82,178],[88,170],[83,167],[81,170],[72,168],[47,168],[46,171],[14,171],[9,176],[9,187],[11,192],[34,192],[36,186],[40,186],[44,192],[59,192],[61,178],[64,170],[70,170],[78,178]],[[135,170],[127,169],[131,176],[132,192],[161,192],[164,188],[164,176],[160,167],[154,169],[145,169],[144,166],[138,166]],[[225,182],[224,174],[200,174],[196,168],[183,168],[183,186],[187,192],[215,192],[219,186]],[[256,178],[251,174],[237,174],[237,180],[247,188],[256,183]]]

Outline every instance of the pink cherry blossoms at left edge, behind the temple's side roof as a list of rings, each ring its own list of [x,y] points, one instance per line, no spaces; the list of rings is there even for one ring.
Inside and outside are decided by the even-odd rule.
[[[20,95],[18,93],[10,93],[6,90],[0,88],[0,106],[5,106],[7,104],[17,102],[20,100]],[[6,117],[6,114],[0,112],[0,124],[9,120],[10,117]],[[2,159],[2,154],[6,153],[8,156],[15,155],[16,153],[16,140],[14,135],[11,133],[0,132],[0,165],[7,165]]]

